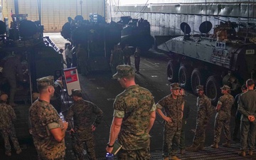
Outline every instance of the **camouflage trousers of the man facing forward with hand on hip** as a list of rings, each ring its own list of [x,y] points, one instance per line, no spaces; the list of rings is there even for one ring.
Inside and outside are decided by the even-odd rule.
[[[181,138],[181,123],[180,124],[165,124],[164,127],[164,144],[163,155],[164,157],[175,156],[178,151]]]

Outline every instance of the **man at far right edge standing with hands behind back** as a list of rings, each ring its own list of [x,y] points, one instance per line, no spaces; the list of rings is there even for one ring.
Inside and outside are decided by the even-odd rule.
[[[245,151],[249,149],[249,155],[255,149],[256,135],[256,92],[254,90],[255,81],[246,81],[247,92],[242,93],[238,100],[238,111],[241,115],[241,151],[240,156],[245,156]]]

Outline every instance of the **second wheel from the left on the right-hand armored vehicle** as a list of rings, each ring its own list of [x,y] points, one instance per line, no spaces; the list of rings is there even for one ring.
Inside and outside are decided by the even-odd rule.
[[[191,70],[185,65],[181,65],[178,70],[178,82],[181,87],[188,88],[190,86]]]

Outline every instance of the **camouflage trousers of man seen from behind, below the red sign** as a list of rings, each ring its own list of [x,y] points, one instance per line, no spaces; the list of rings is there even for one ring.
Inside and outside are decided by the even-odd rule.
[[[96,153],[95,153],[95,139],[92,137],[91,139],[87,139],[86,141],[80,141],[75,137],[72,138],[72,148],[75,152],[75,156],[78,160],[84,159],[84,154],[82,151],[84,150],[84,144],[87,148],[87,154],[90,160],[96,160]]]

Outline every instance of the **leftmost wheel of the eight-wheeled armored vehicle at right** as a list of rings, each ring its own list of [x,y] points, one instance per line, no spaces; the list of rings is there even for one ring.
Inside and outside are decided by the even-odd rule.
[[[178,82],[178,63],[170,60],[167,65],[167,79],[169,82]]]

